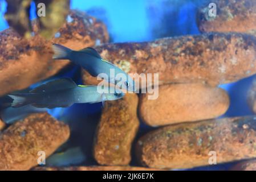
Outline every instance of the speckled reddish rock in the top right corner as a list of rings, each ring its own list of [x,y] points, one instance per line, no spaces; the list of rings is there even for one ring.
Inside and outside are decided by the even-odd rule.
[[[201,32],[244,32],[256,35],[256,1],[214,0],[217,16],[209,16],[208,5],[198,11],[197,24]]]

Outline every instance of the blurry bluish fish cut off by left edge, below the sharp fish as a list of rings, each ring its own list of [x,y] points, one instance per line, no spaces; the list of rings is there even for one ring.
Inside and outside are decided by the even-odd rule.
[[[42,113],[46,112],[46,108],[37,108],[31,105],[26,105],[22,107],[7,107],[0,111],[0,117],[6,124],[13,124],[15,121],[25,118],[31,113]]]

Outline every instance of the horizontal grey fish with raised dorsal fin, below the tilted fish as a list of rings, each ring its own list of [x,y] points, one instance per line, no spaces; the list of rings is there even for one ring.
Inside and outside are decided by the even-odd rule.
[[[32,89],[29,93],[9,94],[13,99],[12,107],[32,105],[52,109],[69,107],[75,103],[97,103],[118,100],[124,93],[113,86],[98,90],[96,85],[76,85],[68,77],[48,81]]]

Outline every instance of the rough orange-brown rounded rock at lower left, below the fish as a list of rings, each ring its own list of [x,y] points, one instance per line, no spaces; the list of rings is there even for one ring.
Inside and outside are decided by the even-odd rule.
[[[38,165],[39,151],[50,156],[69,136],[68,126],[49,114],[31,114],[0,135],[0,170],[28,170]]]

